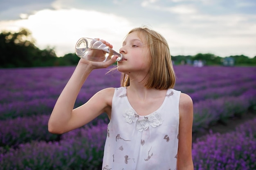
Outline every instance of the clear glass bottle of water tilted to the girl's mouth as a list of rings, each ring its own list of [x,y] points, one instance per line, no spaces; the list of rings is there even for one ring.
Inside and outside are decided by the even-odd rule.
[[[92,38],[80,38],[76,42],[76,55],[80,58],[93,62],[105,62],[114,55],[118,55],[117,62],[123,60],[123,55],[117,53],[101,41]]]

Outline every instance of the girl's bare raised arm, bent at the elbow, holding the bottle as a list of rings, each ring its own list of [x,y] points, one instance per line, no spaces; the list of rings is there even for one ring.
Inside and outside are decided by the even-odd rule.
[[[107,68],[116,62],[117,57],[106,62],[90,62],[84,59],[79,61],[54,106],[48,122],[49,132],[61,134],[79,128],[106,111],[109,105],[108,95],[112,92],[111,88],[98,92],[83,106],[74,110],[73,108],[76,97],[92,70]]]

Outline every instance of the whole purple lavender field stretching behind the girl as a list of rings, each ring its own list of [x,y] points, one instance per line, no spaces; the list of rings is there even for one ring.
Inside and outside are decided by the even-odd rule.
[[[74,66],[0,69],[0,167],[2,170],[100,170],[108,119],[50,134],[47,123]],[[194,102],[193,132],[256,109],[256,67],[174,66],[176,90]],[[76,100],[85,103],[120,74],[94,70]],[[107,73],[107,74],[106,74]],[[195,170],[256,170],[256,119],[226,134],[193,143]]]

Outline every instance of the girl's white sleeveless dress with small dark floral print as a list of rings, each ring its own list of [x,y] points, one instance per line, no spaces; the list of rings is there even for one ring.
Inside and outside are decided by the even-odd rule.
[[[102,170],[176,170],[180,93],[168,89],[155,112],[140,116],[126,87],[115,88]]]

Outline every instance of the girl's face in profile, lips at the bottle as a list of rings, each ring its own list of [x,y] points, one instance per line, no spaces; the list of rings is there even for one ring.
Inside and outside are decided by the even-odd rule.
[[[124,56],[124,60],[117,63],[118,71],[130,76],[133,73],[147,75],[151,57],[144,35],[138,36],[137,32],[128,34],[119,52]]]

